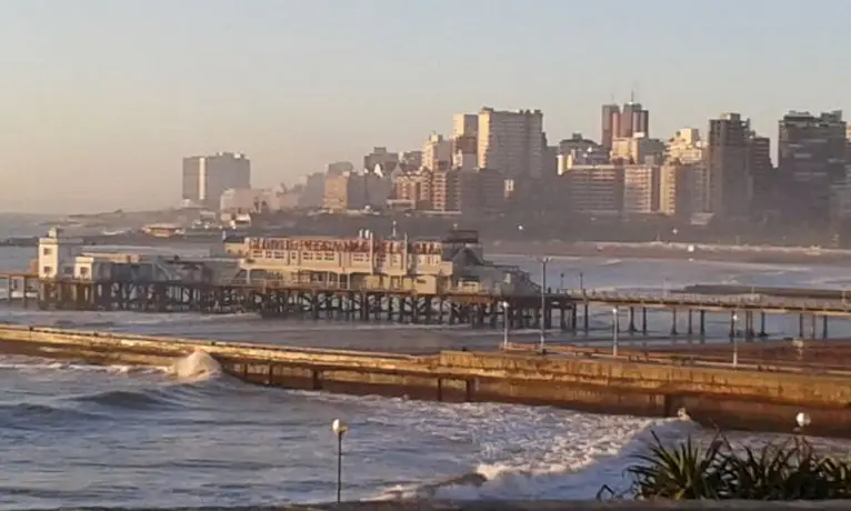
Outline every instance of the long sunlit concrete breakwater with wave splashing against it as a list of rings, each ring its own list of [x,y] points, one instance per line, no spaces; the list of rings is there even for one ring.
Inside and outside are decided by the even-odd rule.
[[[724,429],[851,437],[851,378],[687,367],[628,359],[444,351],[393,353],[0,327],[0,352],[92,363],[164,365],[203,350],[247,382],[290,389],[554,405],[600,413],[674,417]]]

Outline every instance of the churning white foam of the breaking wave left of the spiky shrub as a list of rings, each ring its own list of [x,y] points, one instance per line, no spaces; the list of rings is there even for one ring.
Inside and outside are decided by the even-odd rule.
[[[484,442],[483,455],[493,461],[435,482],[396,485],[374,500],[593,498],[602,484],[624,485],[625,458],[643,448],[650,429],[679,434],[693,428],[683,419],[581,413],[562,429],[508,428]]]

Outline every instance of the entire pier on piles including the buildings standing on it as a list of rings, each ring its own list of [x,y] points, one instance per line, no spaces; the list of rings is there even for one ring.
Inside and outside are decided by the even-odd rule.
[[[518,267],[484,258],[474,231],[441,239],[244,238],[223,243],[228,258],[91,252],[52,229],[39,239],[32,273],[2,273],[8,303],[42,310],[253,312],[267,318],[469,324],[540,329],[588,337],[591,318],[610,331],[650,335],[648,313],[665,312],[671,338],[704,339],[709,314],[722,315],[731,340],[763,339],[767,317],[797,315],[798,337],[828,339],[831,318],[851,318],[844,292],[695,284],[662,293],[601,292],[533,282]],[[759,291],[759,292],[757,292]],[[0,297],[3,297],[0,294]],[[600,311],[610,314],[599,314]],[[717,319],[717,318],[715,318]],[[607,320],[603,320],[607,321]],[[599,329],[599,322],[594,327]],[[653,332],[658,337],[658,329]]]

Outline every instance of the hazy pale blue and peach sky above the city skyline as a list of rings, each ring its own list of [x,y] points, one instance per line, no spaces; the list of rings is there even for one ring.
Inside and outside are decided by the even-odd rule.
[[[848,0],[2,0],[0,211],[172,206],[181,157],[239,150],[294,182],[453,112],[540,108],[599,138],[639,100],[651,134],[741,111],[849,107]]]

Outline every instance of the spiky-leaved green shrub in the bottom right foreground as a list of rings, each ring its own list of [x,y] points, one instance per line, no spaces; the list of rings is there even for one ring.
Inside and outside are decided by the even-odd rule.
[[[722,434],[704,445],[691,438],[649,451],[627,469],[638,499],[824,500],[851,498],[851,463],[814,452],[801,437],[734,449]],[[609,491],[603,488],[603,491]]]

